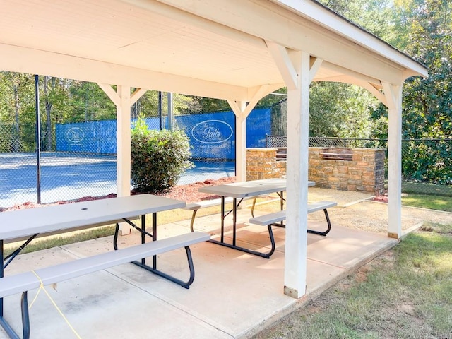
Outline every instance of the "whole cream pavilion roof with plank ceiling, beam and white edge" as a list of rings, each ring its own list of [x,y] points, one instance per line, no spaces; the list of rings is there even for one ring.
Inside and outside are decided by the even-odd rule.
[[[381,88],[427,76],[315,1],[1,2],[6,71],[250,101],[262,86],[285,86],[267,41],[322,59],[314,81]]]

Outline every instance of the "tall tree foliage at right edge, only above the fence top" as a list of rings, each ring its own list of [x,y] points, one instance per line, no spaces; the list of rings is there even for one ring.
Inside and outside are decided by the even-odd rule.
[[[452,5],[446,0],[396,1],[400,23],[408,23],[405,52],[429,68],[428,78],[405,82],[405,138],[452,138]],[[399,24],[400,25],[400,24]]]

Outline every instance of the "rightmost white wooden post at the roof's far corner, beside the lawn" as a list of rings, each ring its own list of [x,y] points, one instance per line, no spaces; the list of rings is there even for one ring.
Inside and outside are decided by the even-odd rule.
[[[402,236],[402,85],[383,83],[388,104],[388,237]]]

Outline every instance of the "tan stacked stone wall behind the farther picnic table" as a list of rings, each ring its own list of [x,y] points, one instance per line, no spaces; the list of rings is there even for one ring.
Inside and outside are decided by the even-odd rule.
[[[309,180],[316,186],[344,191],[384,193],[385,151],[374,148],[353,148],[352,160],[321,158],[324,148],[309,148]],[[246,180],[285,176],[286,162],[276,161],[277,148],[246,150]]]

